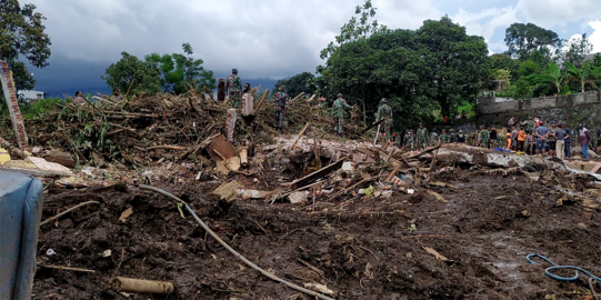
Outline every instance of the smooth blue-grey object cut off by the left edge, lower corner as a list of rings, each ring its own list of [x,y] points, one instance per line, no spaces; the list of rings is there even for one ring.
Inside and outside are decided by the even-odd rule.
[[[0,299],[31,299],[43,184],[0,170]]]

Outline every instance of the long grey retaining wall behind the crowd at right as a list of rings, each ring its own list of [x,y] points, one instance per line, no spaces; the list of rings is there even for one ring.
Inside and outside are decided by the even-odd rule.
[[[509,104],[511,103],[511,104]],[[543,121],[583,122],[597,127],[601,121],[601,93],[587,92],[559,97],[542,97],[510,102],[478,99],[478,122],[505,126],[511,117],[519,121],[541,118]]]

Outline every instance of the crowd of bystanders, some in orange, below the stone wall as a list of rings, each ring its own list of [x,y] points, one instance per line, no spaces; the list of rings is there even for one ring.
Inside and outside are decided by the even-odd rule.
[[[598,131],[598,136],[601,136],[601,130]],[[582,158],[589,159],[588,150],[593,142],[583,123],[574,129],[569,128],[567,122],[551,121],[551,126],[547,127],[539,118],[523,122],[517,122],[515,118],[511,118],[508,127],[501,131],[497,131],[494,127],[487,129],[480,126],[474,146],[489,149],[500,147],[525,154],[549,153],[550,157],[570,159],[572,146],[577,143],[582,149]]]

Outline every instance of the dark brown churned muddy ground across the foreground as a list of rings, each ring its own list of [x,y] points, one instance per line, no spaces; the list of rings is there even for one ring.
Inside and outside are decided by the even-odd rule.
[[[601,276],[599,211],[585,212],[578,202],[557,206],[561,193],[524,176],[463,171],[445,180],[460,188],[432,188],[447,203],[425,192],[375,200],[349,194],[318,201],[314,211],[263,201],[226,204],[209,194],[218,182],[156,186],[189,201],[249,260],[300,286],[325,284],[338,299],[582,299],[587,277],[552,280],[542,261],[525,261],[533,252]],[[89,200],[101,206],[41,228],[38,260],[96,273],[39,268],[33,299],[310,299],[244,266],[152,191],[123,184],[50,188],[42,220]],[[130,207],[133,213],[119,222]],[[56,254],[47,256],[48,249]],[[112,254],[102,258],[106,250]],[[118,276],[172,281],[177,290],[126,298],[107,287],[119,264]]]

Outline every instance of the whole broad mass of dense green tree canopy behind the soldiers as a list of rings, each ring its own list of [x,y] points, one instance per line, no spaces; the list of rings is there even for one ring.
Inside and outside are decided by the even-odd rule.
[[[370,121],[381,98],[388,98],[402,128],[432,119],[437,109],[450,113],[461,101],[475,101],[488,79],[484,40],[448,17],[418,30],[379,28],[358,37],[324,49],[317,82],[329,99],[342,92],[362,104]]]

